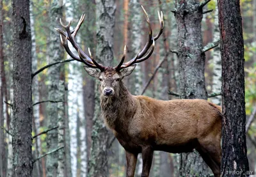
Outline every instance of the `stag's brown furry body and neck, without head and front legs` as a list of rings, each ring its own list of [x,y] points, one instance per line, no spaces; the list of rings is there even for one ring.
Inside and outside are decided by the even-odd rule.
[[[101,95],[101,108],[106,125],[129,154],[137,157],[148,148],[149,154],[155,150],[183,153],[196,149],[209,161],[215,176],[219,175],[220,107],[199,99],[163,101],[134,96],[123,83],[120,88],[118,98]],[[134,176],[134,170],[130,176]],[[149,169],[146,176],[148,173]]]

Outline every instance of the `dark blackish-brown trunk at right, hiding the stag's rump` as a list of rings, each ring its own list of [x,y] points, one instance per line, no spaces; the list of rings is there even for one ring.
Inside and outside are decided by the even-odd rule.
[[[239,0],[218,0],[222,61],[221,176],[248,176],[244,41]]]

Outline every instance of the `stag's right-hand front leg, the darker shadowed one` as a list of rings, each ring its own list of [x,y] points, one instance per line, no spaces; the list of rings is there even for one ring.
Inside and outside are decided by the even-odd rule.
[[[150,167],[152,164],[154,151],[152,150],[151,147],[145,147],[145,148],[142,148],[141,153],[142,153],[142,161],[143,161],[141,177],[148,177],[150,172]]]

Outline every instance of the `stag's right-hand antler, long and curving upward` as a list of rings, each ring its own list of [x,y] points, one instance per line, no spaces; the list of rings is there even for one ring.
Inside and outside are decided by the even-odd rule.
[[[163,33],[163,28],[164,28],[163,12],[161,12],[161,15],[158,12],[158,18],[159,18],[159,22],[160,22],[160,25],[161,25],[161,29],[158,32],[158,34],[153,38],[152,37],[152,29],[151,29],[151,25],[150,25],[150,20],[148,18],[148,14],[145,11],[145,9],[143,8],[143,6],[141,6],[141,8],[142,8],[142,10],[143,10],[143,12],[146,16],[146,20],[147,20],[147,24],[148,24],[148,31],[149,31],[148,32],[148,42],[146,43],[145,47],[141,50],[141,52],[139,54],[137,54],[136,57],[132,58],[130,61],[127,61],[126,63],[124,63],[124,58],[125,58],[125,49],[124,49],[123,58],[121,59],[120,63],[117,66],[115,66],[116,71],[120,71],[120,70],[122,70],[122,68],[127,68],[127,67],[133,65],[134,63],[140,63],[141,61],[145,61],[146,59],[148,59],[154,51],[155,41]],[[148,49],[150,49],[149,52],[148,52]]]

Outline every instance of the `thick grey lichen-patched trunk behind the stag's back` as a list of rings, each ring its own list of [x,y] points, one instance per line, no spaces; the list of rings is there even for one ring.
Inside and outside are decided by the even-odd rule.
[[[179,40],[180,98],[207,99],[205,89],[205,54],[202,54],[202,8],[198,0],[175,3]],[[198,153],[180,154],[179,176],[206,176],[209,169]]]

